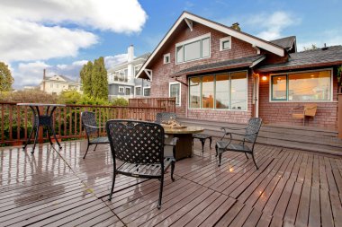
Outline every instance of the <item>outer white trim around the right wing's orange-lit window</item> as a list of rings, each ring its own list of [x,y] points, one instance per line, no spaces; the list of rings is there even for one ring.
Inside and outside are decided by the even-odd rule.
[[[334,96],[334,74],[333,74],[333,69],[332,68],[321,68],[321,69],[315,69],[315,70],[305,70],[305,71],[293,71],[293,72],[284,72],[284,73],[279,73],[279,74],[284,74],[288,76],[289,74],[302,74],[302,73],[309,73],[309,72],[319,72],[319,71],[330,71],[330,100],[272,100],[272,76],[277,75],[277,74],[269,74],[269,82],[268,82],[268,101],[269,102],[283,102],[283,103],[291,103],[291,102],[332,102],[333,101],[333,96]],[[288,89],[288,88],[286,88]],[[288,92],[286,90],[286,92]]]

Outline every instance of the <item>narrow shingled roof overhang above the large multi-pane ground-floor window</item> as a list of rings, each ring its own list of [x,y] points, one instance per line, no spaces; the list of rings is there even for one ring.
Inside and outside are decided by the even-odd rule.
[[[215,62],[205,65],[194,65],[188,68],[185,68],[173,75],[181,76],[183,74],[195,74],[195,73],[205,73],[210,72],[212,70],[225,70],[229,68],[238,68],[238,67],[253,67],[257,65],[259,62],[265,59],[264,55],[257,55],[251,57],[241,57],[238,59],[226,60],[221,62]]]

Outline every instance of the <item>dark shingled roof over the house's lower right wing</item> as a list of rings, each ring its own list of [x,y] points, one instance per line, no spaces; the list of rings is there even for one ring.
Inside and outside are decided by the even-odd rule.
[[[290,54],[289,61],[280,64],[263,65],[258,72],[275,72],[305,67],[319,67],[342,64],[342,46],[318,48]]]

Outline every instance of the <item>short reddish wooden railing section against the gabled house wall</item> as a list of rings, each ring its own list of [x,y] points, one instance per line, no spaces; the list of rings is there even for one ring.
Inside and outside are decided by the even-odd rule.
[[[130,107],[165,108],[166,112],[175,112],[173,98],[135,98],[129,100]]]

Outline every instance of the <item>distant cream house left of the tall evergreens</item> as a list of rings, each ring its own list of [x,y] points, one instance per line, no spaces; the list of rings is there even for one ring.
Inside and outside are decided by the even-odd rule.
[[[45,69],[43,80],[40,83],[40,90],[49,94],[60,94],[62,91],[76,90],[82,92],[82,83],[70,80],[64,75],[46,76]]]

